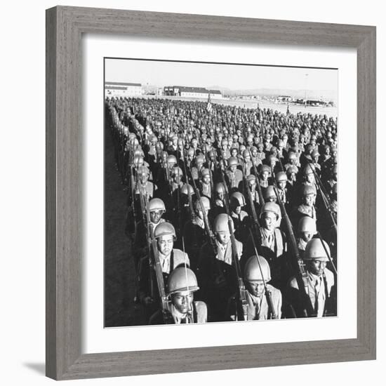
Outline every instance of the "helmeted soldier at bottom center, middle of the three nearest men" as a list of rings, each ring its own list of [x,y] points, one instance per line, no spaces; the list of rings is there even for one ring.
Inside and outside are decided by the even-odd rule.
[[[266,320],[281,318],[281,292],[268,284],[271,269],[265,258],[253,255],[244,267],[244,284],[247,289],[247,320]],[[233,300],[233,299],[232,299]],[[230,303],[230,319],[236,319],[235,302]]]

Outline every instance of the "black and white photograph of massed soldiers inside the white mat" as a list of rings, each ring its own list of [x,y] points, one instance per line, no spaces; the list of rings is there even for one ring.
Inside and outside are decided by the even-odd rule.
[[[105,327],[338,316],[338,69],[105,58]]]

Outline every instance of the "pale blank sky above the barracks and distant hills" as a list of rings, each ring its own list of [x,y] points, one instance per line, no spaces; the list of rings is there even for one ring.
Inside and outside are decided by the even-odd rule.
[[[220,86],[232,90],[279,88],[338,94],[338,70],[202,62],[106,59],[105,80],[142,86]]]

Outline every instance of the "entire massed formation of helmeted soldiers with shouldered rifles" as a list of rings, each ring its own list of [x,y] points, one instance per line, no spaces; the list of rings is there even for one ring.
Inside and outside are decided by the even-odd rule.
[[[149,324],[336,315],[337,121],[107,98]]]

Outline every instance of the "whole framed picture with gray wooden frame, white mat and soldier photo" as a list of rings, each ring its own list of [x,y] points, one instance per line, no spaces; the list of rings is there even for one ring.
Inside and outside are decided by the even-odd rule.
[[[375,359],[375,27],[46,31],[49,377]]]

